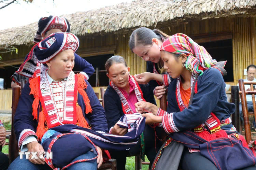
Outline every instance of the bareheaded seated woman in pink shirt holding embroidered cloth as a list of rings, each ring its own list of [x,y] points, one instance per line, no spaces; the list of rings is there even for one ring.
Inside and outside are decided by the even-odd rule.
[[[151,102],[156,105],[148,85],[138,85],[134,76],[129,74],[130,68],[121,56],[109,58],[105,64],[110,84],[104,94],[105,114],[108,122],[109,133],[125,135],[127,128],[121,128],[116,123],[124,114],[136,113],[134,104],[138,101]],[[136,125],[130,125],[136,126]],[[125,170],[126,156],[138,155],[145,151],[151,164],[156,156],[156,150],[160,147],[160,141],[155,141],[155,131],[149,125],[145,126],[140,142],[129,151],[110,151],[111,157],[117,159],[118,170]],[[155,148],[156,142],[156,148]],[[142,147],[141,147],[142,146]],[[151,166],[150,164],[150,166]]]

